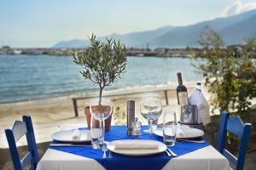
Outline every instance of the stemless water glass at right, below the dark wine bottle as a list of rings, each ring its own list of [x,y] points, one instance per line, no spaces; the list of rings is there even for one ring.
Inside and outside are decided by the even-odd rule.
[[[175,111],[167,111],[164,113],[163,122],[163,138],[164,143],[173,146],[176,141],[177,119]]]

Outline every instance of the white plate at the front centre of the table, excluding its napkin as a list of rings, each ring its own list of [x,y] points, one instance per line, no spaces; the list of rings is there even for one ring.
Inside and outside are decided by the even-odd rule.
[[[137,142],[139,144],[144,144],[144,143],[156,143],[159,144],[159,148],[158,149],[115,149],[114,148],[114,144],[116,142],[124,142],[124,143],[134,143]],[[125,155],[125,156],[149,156],[149,155],[154,155],[154,154],[158,154],[161,152],[166,151],[166,144],[163,144],[159,141],[155,141],[155,140],[144,140],[144,139],[125,139],[125,140],[114,140],[112,142],[110,142],[108,144],[108,150],[113,151],[114,153],[120,154],[120,155]]]

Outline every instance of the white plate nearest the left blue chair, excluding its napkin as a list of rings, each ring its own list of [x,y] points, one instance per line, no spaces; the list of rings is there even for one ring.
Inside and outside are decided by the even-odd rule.
[[[90,131],[89,130],[80,130],[81,136],[80,140],[73,140],[73,130],[63,130],[51,135],[51,138],[61,142],[68,142],[68,143],[82,143],[82,142],[89,142],[90,141]]]

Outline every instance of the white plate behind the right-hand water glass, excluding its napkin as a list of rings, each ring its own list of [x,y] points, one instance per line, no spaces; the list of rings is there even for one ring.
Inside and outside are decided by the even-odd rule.
[[[198,128],[191,128],[185,126],[179,126],[178,128],[181,128],[181,130],[183,131],[183,135],[177,134],[176,139],[194,139],[199,138],[205,134],[202,130]],[[154,134],[163,137],[163,128],[159,127],[157,129],[154,129]]]

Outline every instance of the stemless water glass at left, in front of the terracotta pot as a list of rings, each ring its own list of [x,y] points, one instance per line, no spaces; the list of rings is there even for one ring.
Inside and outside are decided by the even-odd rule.
[[[90,118],[90,136],[91,136],[91,145],[93,149],[99,149],[102,148],[103,141],[104,141],[104,133],[105,126],[100,126],[101,123],[104,123],[104,121],[100,122],[96,119],[95,116],[91,115]]]

